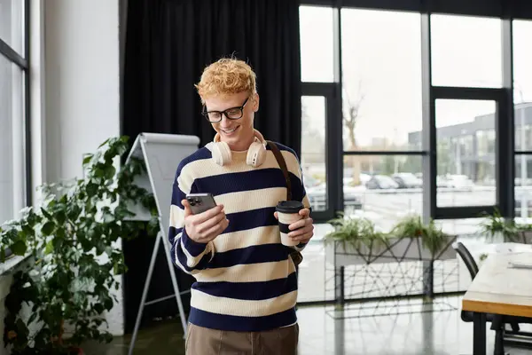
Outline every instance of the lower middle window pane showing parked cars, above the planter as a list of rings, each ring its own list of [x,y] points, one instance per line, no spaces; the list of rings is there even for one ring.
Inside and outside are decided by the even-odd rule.
[[[383,232],[403,217],[421,216],[421,159],[419,155],[344,156],[346,216],[367,217]]]

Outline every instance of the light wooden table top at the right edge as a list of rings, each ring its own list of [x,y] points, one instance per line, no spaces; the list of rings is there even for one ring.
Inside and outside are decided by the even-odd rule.
[[[532,254],[490,255],[462,299],[464,311],[532,318],[532,269],[513,268],[511,261],[530,264]]]

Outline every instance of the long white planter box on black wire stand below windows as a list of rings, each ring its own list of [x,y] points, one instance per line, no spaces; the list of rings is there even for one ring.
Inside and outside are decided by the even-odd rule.
[[[326,244],[325,254],[327,263],[334,264],[336,267],[402,261],[449,260],[457,257],[456,251],[452,248],[456,239],[456,236],[450,236],[442,250],[434,257],[428,249],[424,248],[420,238],[391,238],[387,246],[374,245],[371,246],[372,248],[363,244],[359,248],[346,244],[346,248],[343,248],[340,242],[330,241]]]

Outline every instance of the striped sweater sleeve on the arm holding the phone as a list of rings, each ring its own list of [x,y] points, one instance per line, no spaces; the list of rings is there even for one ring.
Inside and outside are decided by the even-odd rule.
[[[181,176],[179,167],[172,186],[172,200],[170,205],[170,223],[168,240],[172,246],[171,257],[174,264],[186,273],[195,273],[207,267],[215,255],[212,241],[199,243],[193,241],[184,227],[184,206],[181,201],[186,197],[184,191],[191,191],[187,179]]]

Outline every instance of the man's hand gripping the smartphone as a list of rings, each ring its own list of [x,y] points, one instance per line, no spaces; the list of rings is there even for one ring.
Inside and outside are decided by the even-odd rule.
[[[223,205],[217,205],[199,215],[193,215],[189,202],[181,201],[184,206],[184,228],[192,241],[207,243],[214,240],[229,225]]]

